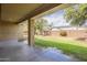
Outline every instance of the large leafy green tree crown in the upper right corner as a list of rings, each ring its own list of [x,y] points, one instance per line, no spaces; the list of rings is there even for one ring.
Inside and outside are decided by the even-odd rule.
[[[64,18],[72,25],[80,26],[87,21],[87,4],[76,4],[65,9]]]

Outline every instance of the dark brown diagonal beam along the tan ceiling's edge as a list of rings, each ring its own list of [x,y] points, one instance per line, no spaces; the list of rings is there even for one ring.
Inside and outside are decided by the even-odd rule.
[[[21,23],[24,20],[31,19],[34,15],[37,15],[42,12],[45,12],[54,7],[59,6],[61,3],[43,3],[41,7],[36,8],[35,10],[33,10],[32,12],[28,13],[26,15],[24,15],[23,18],[19,19],[19,21],[17,23]]]

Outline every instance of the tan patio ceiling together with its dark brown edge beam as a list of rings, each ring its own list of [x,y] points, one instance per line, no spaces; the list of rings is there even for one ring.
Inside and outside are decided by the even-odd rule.
[[[20,23],[29,18],[58,6],[58,3],[2,3],[0,6],[2,22]]]

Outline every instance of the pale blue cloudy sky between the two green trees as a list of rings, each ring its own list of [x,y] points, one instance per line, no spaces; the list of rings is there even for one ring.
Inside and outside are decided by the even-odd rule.
[[[64,10],[56,11],[52,14],[43,17],[43,19],[46,19],[48,23],[53,22],[54,26],[66,26],[69,25],[69,23],[66,22],[64,19]]]

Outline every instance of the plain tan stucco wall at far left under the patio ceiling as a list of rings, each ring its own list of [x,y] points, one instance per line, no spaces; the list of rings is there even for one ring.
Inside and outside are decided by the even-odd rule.
[[[0,23],[0,40],[18,39],[19,25],[12,23]]]

